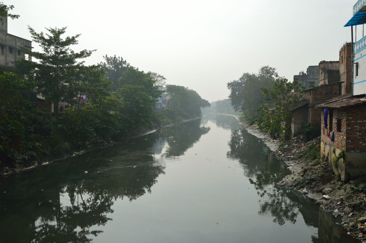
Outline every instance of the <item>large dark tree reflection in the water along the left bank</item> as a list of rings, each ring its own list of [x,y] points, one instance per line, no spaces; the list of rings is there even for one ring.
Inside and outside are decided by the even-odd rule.
[[[180,156],[209,130],[197,119],[2,178],[0,242],[90,242],[103,232],[91,227],[112,220],[116,200],[151,193],[164,174],[154,157],[161,143],[168,145],[163,156]]]

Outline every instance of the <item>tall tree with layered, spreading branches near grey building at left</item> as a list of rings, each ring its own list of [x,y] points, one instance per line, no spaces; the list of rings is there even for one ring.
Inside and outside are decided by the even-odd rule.
[[[69,101],[76,97],[77,92],[71,90],[71,87],[78,82],[78,73],[84,63],[78,60],[89,57],[95,50],[71,50],[71,45],[78,44],[77,38],[80,34],[63,39],[61,35],[66,32],[66,27],[45,28],[49,32],[46,34],[37,33],[30,26],[28,29],[33,41],[39,43],[43,52],[23,50],[38,59],[38,62],[34,63],[34,79],[42,95],[54,102],[57,118],[59,101]]]

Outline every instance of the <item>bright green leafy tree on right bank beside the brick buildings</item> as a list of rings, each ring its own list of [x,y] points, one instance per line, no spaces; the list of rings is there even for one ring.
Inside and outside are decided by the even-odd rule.
[[[259,129],[271,132],[273,136],[284,131],[284,138],[288,140],[291,132],[290,109],[299,105],[303,100],[303,86],[297,80],[292,83],[287,79],[276,79],[273,88],[261,88],[266,100],[259,106],[259,118],[253,121]]]

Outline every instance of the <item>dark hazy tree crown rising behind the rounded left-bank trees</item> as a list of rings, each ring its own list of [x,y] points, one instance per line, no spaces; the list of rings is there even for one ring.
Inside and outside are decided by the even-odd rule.
[[[100,62],[99,65],[105,69],[105,78],[112,81],[112,90],[116,91],[118,88],[118,80],[122,77],[122,73],[132,66],[122,57],[116,57],[116,55],[111,57],[105,54],[103,58],[104,62]]]

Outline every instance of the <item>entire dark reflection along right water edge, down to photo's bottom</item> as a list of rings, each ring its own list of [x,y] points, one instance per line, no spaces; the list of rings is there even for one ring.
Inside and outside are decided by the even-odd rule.
[[[271,151],[261,140],[239,129],[232,132],[228,144],[227,157],[243,165],[244,175],[257,190],[259,215],[271,217],[278,225],[295,224],[301,215],[307,225],[318,228],[318,235],[311,236],[312,242],[359,242],[348,237],[330,213],[311,204],[307,197],[275,186],[290,171],[270,155]]]

